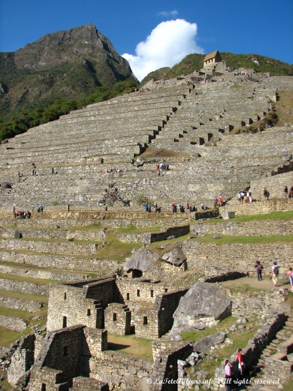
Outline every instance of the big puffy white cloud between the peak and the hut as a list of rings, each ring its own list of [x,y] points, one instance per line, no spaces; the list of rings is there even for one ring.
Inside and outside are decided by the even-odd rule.
[[[136,55],[124,53],[124,57],[138,80],[149,72],[164,66],[173,66],[190,53],[203,53],[197,45],[196,23],[183,19],[161,22],[135,49]]]

